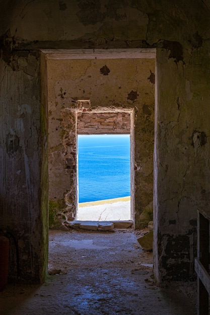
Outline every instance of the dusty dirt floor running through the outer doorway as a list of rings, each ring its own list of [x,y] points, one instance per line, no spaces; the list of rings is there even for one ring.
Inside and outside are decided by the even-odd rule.
[[[152,253],[131,229],[49,231],[43,285],[7,285],[1,315],[193,315],[195,283],[154,281]]]

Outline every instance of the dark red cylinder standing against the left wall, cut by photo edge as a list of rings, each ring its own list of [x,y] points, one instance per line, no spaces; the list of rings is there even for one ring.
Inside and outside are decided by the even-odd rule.
[[[4,235],[0,235],[0,291],[2,291],[8,279],[10,241]]]

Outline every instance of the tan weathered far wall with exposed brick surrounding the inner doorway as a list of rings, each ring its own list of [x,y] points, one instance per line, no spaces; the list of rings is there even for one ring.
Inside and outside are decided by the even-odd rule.
[[[150,76],[155,72],[155,59],[48,60],[47,68],[50,225],[65,224],[65,220],[76,217],[76,136],[88,130],[87,126],[84,130],[81,115],[92,117],[94,112],[102,112],[100,115],[110,112],[104,113],[109,121],[98,118],[92,133],[130,133],[130,117],[126,124],[125,112],[134,111],[135,169],[131,172],[135,174],[131,194],[135,203],[135,227],[141,227],[141,213],[146,207],[153,209],[155,85]],[[90,100],[90,108],[78,108],[77,100],[81,99]],[[113,128],[112,121],[117,124],[118,116],[120,123]]]

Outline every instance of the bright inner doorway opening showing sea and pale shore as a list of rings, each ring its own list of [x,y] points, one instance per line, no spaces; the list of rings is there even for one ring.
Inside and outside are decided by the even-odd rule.
[[[130,220],[130,134],[78,135],[78,220]]]

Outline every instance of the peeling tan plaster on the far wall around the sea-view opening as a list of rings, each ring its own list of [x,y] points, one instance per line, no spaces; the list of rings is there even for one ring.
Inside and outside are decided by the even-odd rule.
[[[144,199],[142,207],[137,207],[136,213],[143,211],[143,208],[151,202],[153,195],[154,85],[151,85],[147,78],[150,69],[154,71],[154,63],[154,60],[150,59],[48,61],[48,76],[50,77],[48,86],[49,172],[51,174],[50,183],[52,183],[49,196],[50,200],[53,200],[55,196],[56,200],[60,200],[63,196],[71,197],[70,203],[65,200],[66,208],[63,207],[61,211],[66,219],[73,219],[77,208],[77,132],[80,134],[129,133],[130,124],[121,112],[126,113],[127,110],[130,112],[133,109],[133,102],[135,102],[136,108],[141,109],[138,114],[136,110],[136,117],[141,115],[139,117],[141,127],[147,125],[147,140],[143,137],[136,137],[138,147],[145,147],[146,145],[143,143],[147,141],[147,150],[140,158],[143,170],[138,173],[138,176],[135,176],[136,185],[140,181],[137,179],[138,177],[144,178],[142,183],[148,181],[147,187],[142,187],[141,192],[135,196],[136,204],[139,203],[139,198]],[[104,64],[106,69],[103,68]],[[137,71],[138,68],[141,68],[141,71]],[[111,74],[112,82],[108,75],[102,75],[99,69],[103,69],[105,74],[110,69],[109,75]],[[139,82],[141,82],[140,85]],[[138,98],[138,93],[134,89],[132,90],[133,87],[142,90],[144,97]],[[66,91],[65,96],[64,91]],[[53,105],[54,98],[57,102],[56,107]],[[69,105],[68,100],[74,100],[72,105]],[[142,114],[143,110],[145,114]],[[107,113],[110,113],[110,118],[105,121],[104,117]],[[92,126],[91,119],[93,120]],[[125,121],[120,122],[120,119],[125,119]],[[98,125],[96,126],[97,120]],[[138,154],[137,150],[136,154]],[[136,159],[138,160],[138,157]],[[62,174],[60,179],[59,174]],[[150,195],[148,195],[148,190],[151,191]],[[147,194],[144,191],[147,191]],[[141,223],[137,221],[136,228],[137,224]]]

